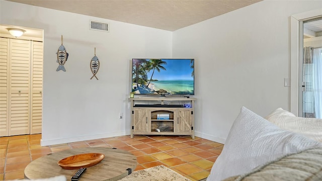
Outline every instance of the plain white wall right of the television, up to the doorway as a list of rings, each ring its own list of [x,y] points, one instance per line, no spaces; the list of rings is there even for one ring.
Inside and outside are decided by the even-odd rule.
[[[290,110],[290,16],[320,1],[263,1],[177,30],[173,57],[195,60],[195,131],[224,142],[241,106]]]

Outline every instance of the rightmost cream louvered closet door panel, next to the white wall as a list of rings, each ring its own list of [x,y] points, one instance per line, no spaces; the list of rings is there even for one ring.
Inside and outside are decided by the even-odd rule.
[[[32,80],[31,80],[31,132],[41,133],[42,126],[42,75],[43,75],[43,43],[32,42]]]

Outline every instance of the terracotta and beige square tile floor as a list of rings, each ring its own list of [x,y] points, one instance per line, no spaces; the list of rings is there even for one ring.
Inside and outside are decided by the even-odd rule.
[[[24,168],[43,155],[81,147],[114,147],[133,153],[140,170],[165,165],[191,180],[207,177],[223,145],[190,136],[127,136],[40,146],[41,134],[0,137],[0,180],[24,178]]]

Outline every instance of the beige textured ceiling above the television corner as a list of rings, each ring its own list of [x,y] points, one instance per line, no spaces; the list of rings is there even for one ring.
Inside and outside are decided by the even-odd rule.
[[[175,31],[262,0],[7,0]]]

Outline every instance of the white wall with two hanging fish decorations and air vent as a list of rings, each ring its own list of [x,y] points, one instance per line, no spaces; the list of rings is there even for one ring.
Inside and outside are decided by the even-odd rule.
[[[171,57],[172,32],[0,0],[1,24],[44,30],[42,145],[130,134],[131,58]],[[89,30],[107,22],[110,32]],[[66,72],[56,71],[66,47]],[[100,59],[99,80],[90,61]],[[123,119],[119,119],[123,113]]]

